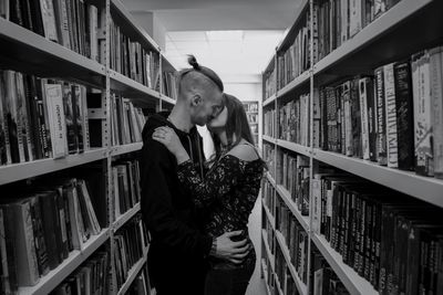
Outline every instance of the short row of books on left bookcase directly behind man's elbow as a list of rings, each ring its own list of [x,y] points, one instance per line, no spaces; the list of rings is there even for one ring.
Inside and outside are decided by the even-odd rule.
[[[134,208],[141,199],[140,167],[137,160],[121,160],[112,166],[111,196],[113,202],[112,221]]]

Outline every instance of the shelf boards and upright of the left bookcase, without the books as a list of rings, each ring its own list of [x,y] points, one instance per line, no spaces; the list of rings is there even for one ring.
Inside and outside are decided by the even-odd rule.
[[[83,1],[82,1],[83,2]],[[103,133],[111,133],[111,96],[113,93],[128,98],[134,106],[159,110],[163,107],[171,107],[175,104],[175,98],[162,93],[162,71],[158,69],[158,86],[148,86],[141,81],[131,78],[130,75],[124,75],[111,69],[111,49],[115,43],[111,42],[111,19],[114,21],[121,32],[136,42],[146,51],[152,53],[152,56],[158,60],[158,66],[167,69],[169,73],[176,70],[162,54],[159,46],[155,41],[141,28],[131,13],[125,9],[120,0],[91,0],[86,4],[95,6],[97,13],[102,17],[99,19],[99,28],[96,30],[96,41],[100,43],[97,50],[103,50],[104,55],[100,62],[76,53],[74,50],[63,46],[56,42],[25,29],[10,20],[0,18],[0,65],[3,70],[13,70],[20,73],[35,75],[42,78],[58,77],[73,84],[81,84],[87,88],[87,93],[99,91],[103,94],[101,109],[95,109],[95,115],[91,119],[103,119]],[[102,54],[103,54],[102,52]],[[95,97],[94,97],[95,98]],[[100,98],[96,98],[100,99]],[[1,114],[3,116],[3,114]],[[92,197],[92,202],[106,204],[106,211],[113,212],[113,203],[111,202],[112,187],[114,180],[112,178],[113,161],[125,159],[131,152],[141,150],[142,143],[132,143],[126,145],[113,146],[111,136],[103,138],[102,147],[91,147],[84,152],[66,155],[62,158],[43,158],[32,161],[22,161],[10,165],[0,166],[0,186],[14,185],[18,181],[39,181],[40,177],[49,173],[68,173],[70,169],[75,169],[83,165],[94,164],[100,167],[103,173],[107,175],[105,179],[105,191],[103,196],[106,200],[97,201]],[[58,177],[58,176],[56,176]],[[4,188],[1,187],[1,188]],[[100,196],[95,196],[100,197]],[[95,208],[97,212],[97,208]],[[128,221],[140,214],[141,207],[137,202],[133,208],[117,217],[115,221],[110,221],[106,226],[101,226],[101,231],[91,238],[82,245],[82,250],[73,250],[69,253],[55,268],[51,270],[45,275],[41,275],[38,283],[33,286],[19,286],[18,294],[49,294],[70,275],[72,275],[79,266],[83,265],[94,253],[100,249],[110,251],[110,261],[114,261],[114,245],[111,241],[117,230],[124,228]],[[134,278],[138,275],[146,262],[148,247],[145,249],[143,257],[136,262],[131,268],[126,282],[121,289],[111,289],[110,294],[125,294],[130,288]],[[110,263],[110,272],[115,271],[114,263]],[[106,270],[107,275],[107,270]],[[115,277],[111,278],[110,285],[115,286]]]

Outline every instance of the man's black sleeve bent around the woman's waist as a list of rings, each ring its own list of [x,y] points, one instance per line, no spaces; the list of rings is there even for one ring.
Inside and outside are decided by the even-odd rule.
[[[142,157],[142,213],[153,239],[176,253],[207,255],[212,238],[185,224],[173,208],[174,156],[162,144],[147,138]]]

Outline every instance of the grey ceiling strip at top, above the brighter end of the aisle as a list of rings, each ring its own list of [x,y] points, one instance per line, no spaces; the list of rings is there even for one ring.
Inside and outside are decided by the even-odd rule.
[[[167,31],[285,30],[300,0],[122,0],[152,11]]]

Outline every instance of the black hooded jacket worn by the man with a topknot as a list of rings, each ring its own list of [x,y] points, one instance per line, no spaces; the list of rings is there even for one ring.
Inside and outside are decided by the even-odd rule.
[[[178,130],[166,119],[166,115],[153,115],[143,129],[141,204],[143,220],[152,235],[150,275],[154,284],[174,284],[177,280],[186,280],[192,287],[189,281],[202,274],[212,238],[202,233],[202,220],[190,193],[178,181],[175,156],[152,139],[152,134],[159,126],[172,127],[200,171],[204,160],[202,138],[195,127],[188,134]]]

